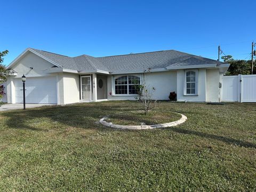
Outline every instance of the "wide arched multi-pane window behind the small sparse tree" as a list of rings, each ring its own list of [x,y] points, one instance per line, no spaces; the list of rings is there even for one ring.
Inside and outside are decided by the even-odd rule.
[[[138,94],[135,85],[140,84],[140,77],[125,75],[115,78],[115,94]]]

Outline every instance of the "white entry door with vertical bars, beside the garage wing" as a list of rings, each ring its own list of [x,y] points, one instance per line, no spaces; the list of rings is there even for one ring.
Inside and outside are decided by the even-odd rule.
[[[81,76],[81,99],[84,101],[91,101],[91,76]]]

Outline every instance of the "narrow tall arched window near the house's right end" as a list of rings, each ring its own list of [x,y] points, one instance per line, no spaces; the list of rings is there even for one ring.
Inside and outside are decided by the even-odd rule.
[[[185,94],[196,95],[197,94],[197,71],[188,70],[185,73]]]

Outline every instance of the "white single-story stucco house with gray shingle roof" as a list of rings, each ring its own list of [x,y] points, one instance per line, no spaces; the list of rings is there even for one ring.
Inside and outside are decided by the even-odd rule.
[[[27,103],[68,103],[134,100],[134,79],[154,86],[154,98],[219,102],[221,77],[229,64],[175,50],[91,57],[65,55],[28,48],[7,66],[8,103],[22,103],[21,76],[27,77]],[[144,73],[150,69],[150,73]]]

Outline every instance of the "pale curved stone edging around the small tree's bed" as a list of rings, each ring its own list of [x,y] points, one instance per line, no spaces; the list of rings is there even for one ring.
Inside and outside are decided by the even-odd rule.
[[[173,113],[176,113],[176,112],[173,112]],[[166,127],[176,126],[187,121],[188,117],[186,117],[185,115],[180,113],[176,113],[176,114],[181,115],[181,118],[179,120],[170,122],[170,123],[162,123],[162,124],[156,124],[156,125],[116,125],[111,122],[110,123],[106,122],[105,119],[107,117],[101,118],[100,123],[102,125],[117,128],[117,129],[145,130],[145,129],[156,129],[156,128],[166,128]]]

